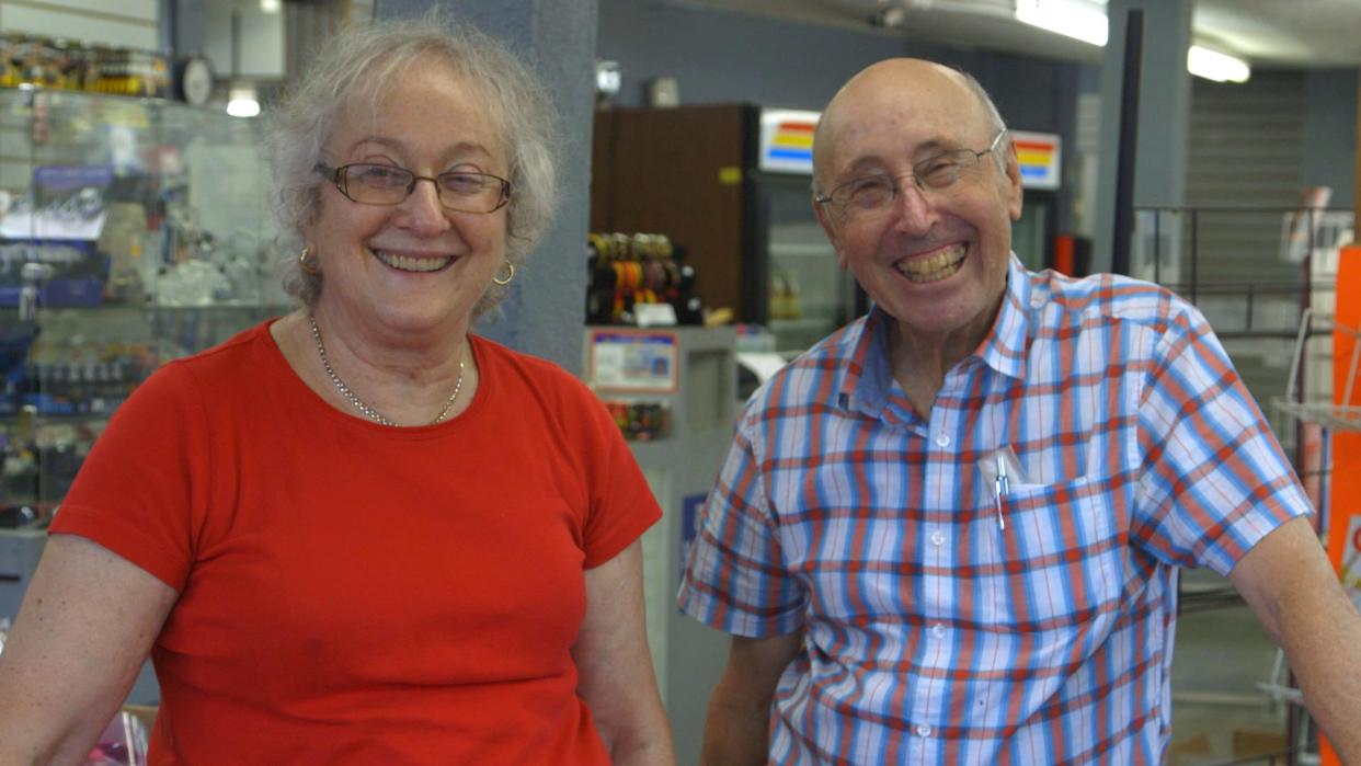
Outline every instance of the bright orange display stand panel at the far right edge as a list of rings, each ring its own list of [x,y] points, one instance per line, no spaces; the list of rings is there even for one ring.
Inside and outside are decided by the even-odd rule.
[[[1361,328],[1361,245],[1342,248],[1338,253],[1339,328]],[[1332,403],[1361,405],[1361,381],[1353,384],[1351,400],[1343,401],[1347,377],[1351,371],[1351,352],[1356,335],[1342,329],[1332,332]],[[1328,558],[1342,578],[1351,601],[1361,604],[1361,431],[1332,431],[1332,471],[1328,502]],[[1342,766],[1342,759],[1320,739],[1324,766]]]

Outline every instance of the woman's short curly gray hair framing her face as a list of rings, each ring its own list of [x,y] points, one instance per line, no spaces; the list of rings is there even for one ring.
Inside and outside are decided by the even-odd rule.
[[[516,267],[523,264],[553,219],[558,161],[554,112],[543,86],[505,45],[438,12],[348,27],[321,48],[269,117],[267,131],[279,246],[286,253],[283,287],[304,305],[314,305],[321,295],[321,275],[306,273],[298,253],[302,230],[318,211],[321,184],[328,182],[316,165],[336,129],[336,114],[347,103],[367,103],[377,113],[384,83],[430,60],[448,65],[483,94],[491,124],[499,131],[510,166],[506,259]],[[489,286],[474,316],[504,297],[504,287]]]

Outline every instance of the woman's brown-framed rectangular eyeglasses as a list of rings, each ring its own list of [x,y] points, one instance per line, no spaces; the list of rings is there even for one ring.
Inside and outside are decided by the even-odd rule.
[[[452,170],[430,177],[395,165],[367,162],[340,167],[318,163],[317,173],[329,178],[342,195],[366,205],[401,204],[415,190],[416,181],[434,184],[440,204],[457,212],[493,212],[510,201],[510,181],[489,173]]]

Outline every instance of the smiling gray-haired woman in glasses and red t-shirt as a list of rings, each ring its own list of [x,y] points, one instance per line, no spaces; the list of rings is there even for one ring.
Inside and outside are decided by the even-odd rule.
[[[670,763],[638,536],[577,380],[470,333],[550,218],[550,107],[468,29],[333,39],[272,162],[297,312],[118,411],[0,654],[0,763]]]

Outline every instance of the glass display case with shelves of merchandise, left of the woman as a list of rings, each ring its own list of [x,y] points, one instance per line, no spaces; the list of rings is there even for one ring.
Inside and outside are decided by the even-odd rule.
[[[161,363],[286,312],[259,124],[0,90],[0,513],[49,514]],[[4,525],[0,521],[0,525]]]

